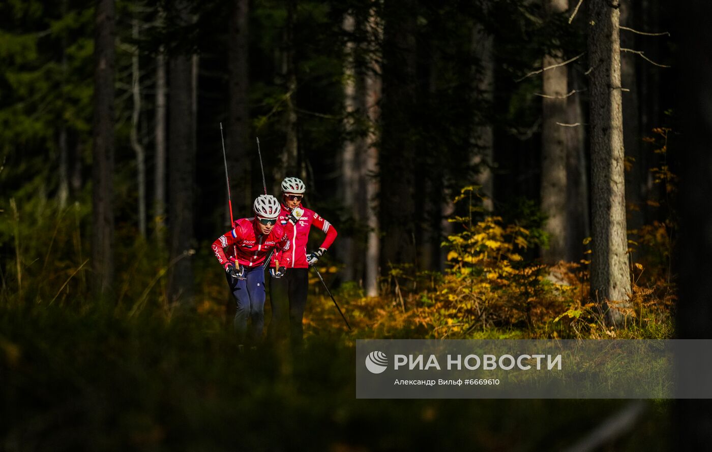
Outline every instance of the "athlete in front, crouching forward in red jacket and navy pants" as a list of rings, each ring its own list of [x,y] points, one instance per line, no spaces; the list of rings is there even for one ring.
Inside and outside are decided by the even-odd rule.
[[[284,227],[278,224],[280,205],[272,195],[260,195],[253,205],[255,216],[233,223],[233,230],[213,242],[213,252],[224,267],[227,282],[237,301],[235,330],[241,343],[247,333],[247,318],[252,319],[251,342],[257,343],[264,326],[265,280],[264,264],[273,253],[272,262],[279,268],[272,271],[281,278],[290,264],[290,242]],[[224,248],[228,248],[225,254]]]

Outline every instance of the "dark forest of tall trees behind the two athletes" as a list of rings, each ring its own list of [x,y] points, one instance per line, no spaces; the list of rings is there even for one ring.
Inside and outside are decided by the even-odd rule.
[[[366,285],[370,295],[377,293],[370,267],[379,276],[391,264],[446,267],[440,245],[453,232],[450,200],[468,185],[481,186],[486,211],[548,232],[548,245],[532,257],[576,262],[591,235],[591,65],[583,55],[565,66],[553,89],[575,92],[554,108],[545,105],[544,75],[525,77],[543,59],[585,54],[587,12],[574,16],[576,5],[564,4],[118,1],[109,196],[118,239],[142,235],[165,247],[155,232],[177,226],[169,206],[178,199],[189,215],[188,230],[173,230],[185,242],[178,247],[205,249],[224,232],[222,122],[234,215],[249,215],[262,191],[259,136],[269,193],[278,195],[285,176],[303,178],[305,203],[340,232],[330,253],[343,265],[340,280]],[[666,31],[665,7],[623,2],[621,23]],[[6,193],[21,207],[23,193],[87,205],[93,4],[8,1],[4,10]],[[672,58],[667,35],[624,30],[621,40],[660,65]],[[666,215],[656,208],[665,187],[650,173],[665,156],[644,139],[671,124],[671,75],[642,55],[622,52],[620,60],[629,230]],[[551,121],[582,125],[549,132]],[[562,162],[543,172],[552,147]],[[563,179],[547,174],[562,168]],[[565,195],[550,205],[548,178]],[[565,222],[547,229],[546,218],[562,215]],[[366,253],[370,243],[377,252]]]

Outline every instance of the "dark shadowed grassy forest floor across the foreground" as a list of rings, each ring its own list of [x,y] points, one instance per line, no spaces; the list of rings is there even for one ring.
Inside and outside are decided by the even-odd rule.
[[[329,280],[328,278],[325,278]],[[100,303],[0,306],[0,450],[392,451],[571,446],[625,400],[355,398],[361,338],[431,338],[414,298],[335,291],[353,330],[312,282],[305,347],[240,353],[224,284],[197,309]],[[269,318],[267,313],[266,318]],[[536,333],[536,336],[541,336]],[[493,328],[471,337],[532,337]],[[615,450],[667,450],[671,402],[645,402]]]

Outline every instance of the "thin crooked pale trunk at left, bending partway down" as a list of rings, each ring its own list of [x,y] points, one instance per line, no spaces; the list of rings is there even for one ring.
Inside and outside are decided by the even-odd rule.
[[[132,38],[137,41],[139,38],[138,19],[132,21]],[[138,123],[141,115],[141,80],[139,71],[138,46],[134,48],[131,56],[132,84],[131,92],[133,99],[133,111],[131,114],[131,147],[136,154],[136,176],[138,183],[138,230],[142,237],[146,237],[146,156],[141,144]]]

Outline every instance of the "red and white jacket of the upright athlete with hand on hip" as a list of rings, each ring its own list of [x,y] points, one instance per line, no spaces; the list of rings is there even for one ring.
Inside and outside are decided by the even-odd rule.
[[[290,220],[290,214],[292,214],[293,220]],[[309,241],[309,230],[312,225],[326,233],[320,248],[329,249],[337,235],[336,228],[330,222],[320,217],[317,212],[304,208],[301,204],[290,212],[289,208],[282,203],[277,225],[284,227],[290,242],[290,250],[282,254],[283,257],[288,257],[289,260],[285,261],[285,263],[280,260],[280,267],[285,266],[293,269],[306,269],[309,267],[307,263],[307,242]],[[270,267],[274,267],[274,259],[272,259]]]

